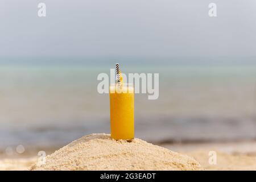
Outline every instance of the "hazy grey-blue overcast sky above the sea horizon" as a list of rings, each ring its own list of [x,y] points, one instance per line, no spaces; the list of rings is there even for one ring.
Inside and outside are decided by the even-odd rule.
[[[256,57],[255,0],[0,0],[0,11],[0,57]]]

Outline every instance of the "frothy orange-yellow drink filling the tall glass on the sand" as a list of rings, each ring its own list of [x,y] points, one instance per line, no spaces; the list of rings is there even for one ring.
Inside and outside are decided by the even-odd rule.
[[[134,87],[122,84],[110,85],[110,130],[111,138],[134,139]]]

